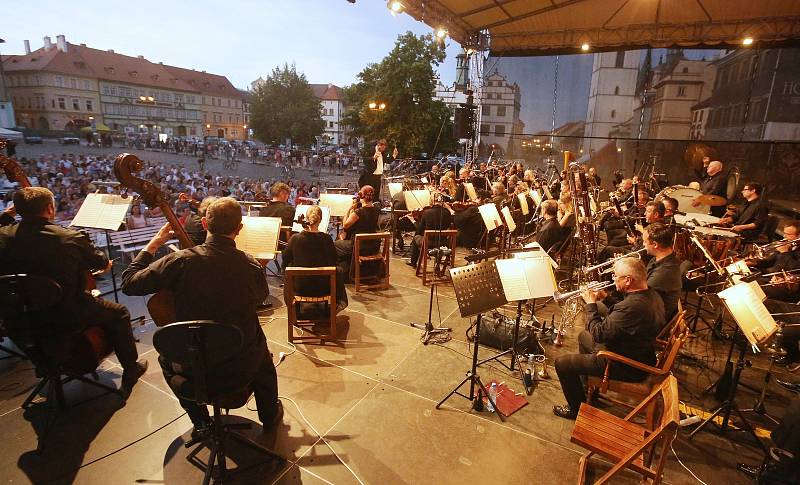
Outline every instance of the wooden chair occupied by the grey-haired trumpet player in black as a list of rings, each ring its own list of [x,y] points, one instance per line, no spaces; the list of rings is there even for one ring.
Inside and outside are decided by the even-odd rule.
[[[606,369],[602,378],[597,376],[588,377],[588,395],[592,396],[595,392],[598,392],[602,394],[605,399],[608,399],[615,404],[630,407],[628,402],[614,399],[606,394],[608,391],[612,391],[625,396],[631,396],[637,401],[650,394],[654,388],[661,384],[661,382],[670,375],[672,372],[672,367],[675,365],[675,359],[678,356],[678,352],[689,336],[689,329],[686,327],[684,316],[684,313],[678,313],[675,325],[673,326],[669,336],[669,340],[667,341],[663,350],[661,350],[658,354],[655,367],[642,364],[641,362],[637,362],[614,352],[609,352],[607,350],[599,351],[597,355],[600,357],[605,357],[608,362],[606,363]],[[612,362],[625,364],[635,369],[647,372],[648,376],[641,382],[627,382],[611,379],[609,377],[609,370]]]

